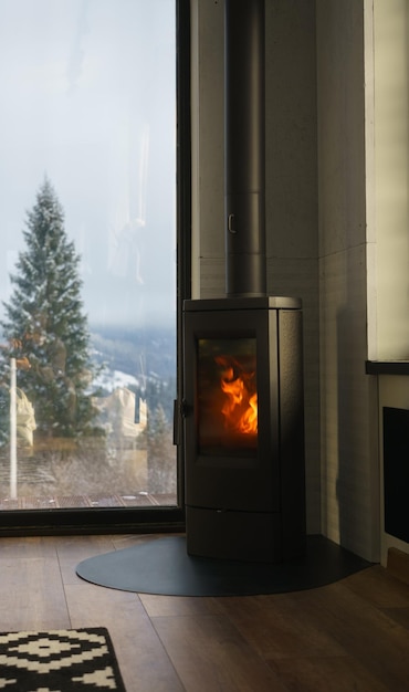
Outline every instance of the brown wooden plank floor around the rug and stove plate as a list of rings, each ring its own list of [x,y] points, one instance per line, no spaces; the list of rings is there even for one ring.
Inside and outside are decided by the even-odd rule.
[[[408,692],[409,586],[374,566],[274,596],[87,584],[78,562],[146,536],[0,539],[0,631],[107,627],[127,692]]]

